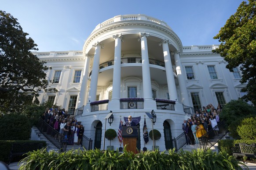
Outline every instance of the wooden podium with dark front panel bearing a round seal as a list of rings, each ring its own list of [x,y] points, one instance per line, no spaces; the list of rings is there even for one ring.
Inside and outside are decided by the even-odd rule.
[[[123,126],[122,137],[124,146],[128,152],[136,154],[136,143],[138,138],[137,126]]]

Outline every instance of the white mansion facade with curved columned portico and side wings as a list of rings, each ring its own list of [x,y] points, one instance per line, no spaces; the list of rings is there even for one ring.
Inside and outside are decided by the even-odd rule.
[[[49,84],[48,89],[58,90],[56,93],[41,92],[39,99],[42,103],[54,100],[66,110],[84,106],[77,120],[85,126],[84,135],[93,141],[99,129],[97,124],[102,123],[101,143],[93,142],[93,147],[97,145],[101,149],[104,118],[110,110],[114,121],[111,126],[107,123],[106,129],[117,131],[120,118],[123,120],[128,115],[141,117],[140,149],[144,147],[145,112],[154,110],[157,115],[154,129],[162,135],[156,145],[162,151],[168,148],[168,128],[166,130],[163,124],[169,124],[172,138],[183,132],[181,124],[188,117],[183,104],[195,108],[209,103],[217,106],[242,96],[240,90],[245,85],[239,82],[240,73],[231,73],[225,68],[227,63],[223,57],[212,53],[216,48],[217,45],[182,46],[175,32],[156,18],[140,14],[118,15],[97,25],[81,51],[34,52],[52,68],[47,75],[54,83]],[[123,109],[120,99],[134,97],[144,99],[143,109]],[[153,97],[176,100],[175,109],[162,110]],[[110,99],[107,109],[91,110],[91,102],[105,99]],[[152,125],[147,116],[146,123],[150,131]],[[111,145],[115,149],[120,147],[118,138]],[[150,139],[146,147],[152,149],[152,145]]]

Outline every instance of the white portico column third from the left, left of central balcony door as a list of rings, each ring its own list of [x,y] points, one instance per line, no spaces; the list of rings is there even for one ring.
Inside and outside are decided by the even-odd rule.
[[[112,100],[119,101],[120,91],[121,91],[121,42],[123,41],[123,36],[122,34],[113,35],[113,39],[115,39],[115,53],[114,53]]]

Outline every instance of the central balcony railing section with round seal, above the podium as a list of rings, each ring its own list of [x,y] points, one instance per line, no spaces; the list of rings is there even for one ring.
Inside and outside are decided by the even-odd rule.
[[[120,99],[120,109],[143,109],[143,98],[123,98]]]

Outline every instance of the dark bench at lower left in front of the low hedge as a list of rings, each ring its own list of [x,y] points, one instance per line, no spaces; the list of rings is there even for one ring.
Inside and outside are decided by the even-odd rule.
[[[14,143],[11,146],[11,152],[9,156],[9,162],[8,165],[12,162],[13,158],[16,156],[22,156],[29,151],[42,149],[43,144],[42,143]]]

